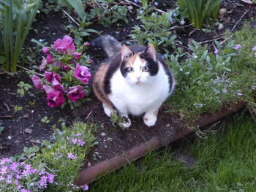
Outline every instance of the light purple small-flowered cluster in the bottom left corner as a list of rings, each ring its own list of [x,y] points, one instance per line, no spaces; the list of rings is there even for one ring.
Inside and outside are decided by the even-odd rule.
[[[48,183],[53,182],[54,175],[46,172],[43,167],[33,169],[31,164],[12,162],[10,158],[0,160],[0,185],[3,189],[21,192],[44,191]]]

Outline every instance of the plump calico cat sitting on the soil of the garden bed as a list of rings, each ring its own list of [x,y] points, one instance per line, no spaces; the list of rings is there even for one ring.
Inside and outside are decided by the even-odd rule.
[[[175,80],[154,45],[121,45],[114,37],[103,35],[91,42],[108,54],[93,78],[93,89],[102,101],[105,114],[114,108],[131,126],[128,115],[143,115],[146,126],[154,126],[162,103],[173,92]]]

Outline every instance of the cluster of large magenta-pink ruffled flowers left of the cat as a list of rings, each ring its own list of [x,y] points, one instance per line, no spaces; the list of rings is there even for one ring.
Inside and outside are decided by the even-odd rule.
[[[52,47],[42,47],[47,56],[42,58],[39,71],[43,71],[42,79],[33,74],[34,87],[47,94],[48,106],[60,107],[67,102],[74,107],[86,96],[91,73],[86,65],[93,61],[89,56],[80,53],[90,44],[79,47],[78,52],[73,39],[67,35],[57,39]]]

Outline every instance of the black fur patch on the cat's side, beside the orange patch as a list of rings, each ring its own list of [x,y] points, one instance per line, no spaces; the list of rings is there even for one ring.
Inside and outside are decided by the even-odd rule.
[[[116,72],[116,70],[119,68],[121,64],[121,53],[114,55],[109,60],[111,63],[104,80],[104,91],[106,94],[111,93],[110,79],[113,77],[113,74]]]

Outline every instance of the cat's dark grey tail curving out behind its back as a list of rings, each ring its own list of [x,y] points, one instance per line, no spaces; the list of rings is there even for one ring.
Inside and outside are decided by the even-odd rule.
[[[119,52],[121,49],[121,43],[116,40],[115,37],[110,35],[102,35],[91,41],[91,45],[94,47],[102,47],[108,54],[108,57]]]

